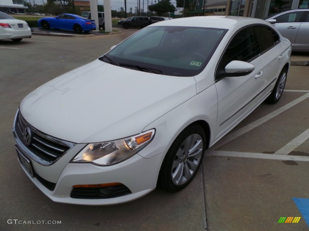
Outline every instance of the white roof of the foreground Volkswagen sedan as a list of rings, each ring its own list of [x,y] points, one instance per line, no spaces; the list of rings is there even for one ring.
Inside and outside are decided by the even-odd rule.
[[[159,24],[160,23],[160,24]],[[235,25],[239,27],[250,24],[266,24],[263,19],[247,18],[238,16],[196,16],[188,18],[177,18],[174,20],[161,21],[159,23],[151,24],[150,26],[192,26],[192,27],[207,27],[207,28],[220,28],[231,29]]]

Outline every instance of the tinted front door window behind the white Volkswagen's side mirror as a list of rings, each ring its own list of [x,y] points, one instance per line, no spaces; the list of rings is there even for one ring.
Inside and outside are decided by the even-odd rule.
[[[260,46],[254,33],[253,27],[247,27],[238,31],[230,41],[216,71],[216,79],[219,78],[220,70],[233,60],[248,62],[260,53]]]

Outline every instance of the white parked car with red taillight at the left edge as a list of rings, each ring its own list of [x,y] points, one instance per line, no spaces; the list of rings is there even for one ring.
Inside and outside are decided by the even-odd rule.
[[[19,42],[23,38],[31,38],[28,23],[0,11],[0,40],[12,39]]]

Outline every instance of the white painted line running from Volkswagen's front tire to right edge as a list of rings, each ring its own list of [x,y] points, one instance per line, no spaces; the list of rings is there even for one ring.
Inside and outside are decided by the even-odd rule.
[[[268,160],[294,160],[294,161],[309,161],[309,156],[287,156],[279,154],[265,154],[253,152],[229,152],[229,151],[209,151],[206,156],[230,156],[230,157],[246,157]]]

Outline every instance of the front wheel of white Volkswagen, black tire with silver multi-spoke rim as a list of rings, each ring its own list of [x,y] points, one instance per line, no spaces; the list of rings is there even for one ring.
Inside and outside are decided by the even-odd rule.
[[[196,150],[190,154],[193,147]],[[164,157],[157,186],[169,192],[178,192],[185,188],[198,172],[205,149],[204,129],[197,124],[185,128],[174,140]]]

